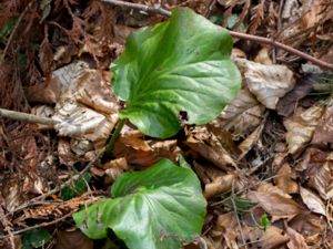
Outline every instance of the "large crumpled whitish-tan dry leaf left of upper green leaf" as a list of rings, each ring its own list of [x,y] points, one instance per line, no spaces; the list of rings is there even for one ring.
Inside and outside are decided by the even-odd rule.
[[[115,97],[102,75],[78,61],[54,71],[51,82],[59,95],[53,116],[59,135],[88,139],[95,149],[102,148],[118,121]]]

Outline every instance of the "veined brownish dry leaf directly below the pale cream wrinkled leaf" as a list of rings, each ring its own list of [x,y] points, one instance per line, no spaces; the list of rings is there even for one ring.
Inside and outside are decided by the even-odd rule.
[[[261,123],[264,110],[255,96],[248,89],[243,89],[224,108],[214,125],[231,131],[234,137],[240,137],[251,133]]]

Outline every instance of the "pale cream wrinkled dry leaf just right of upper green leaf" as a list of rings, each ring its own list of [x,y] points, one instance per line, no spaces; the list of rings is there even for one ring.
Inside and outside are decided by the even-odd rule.
[[[285,65],[263,65],[245,59],[234,59],[244,72],[245,83],[258,101],[271,110],[295,84],[293,72]]]

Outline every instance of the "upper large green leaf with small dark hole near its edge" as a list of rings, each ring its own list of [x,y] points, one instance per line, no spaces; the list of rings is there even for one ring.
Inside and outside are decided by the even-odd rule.
[[[134,32],[111,65],[114,92],[127,102],[121,118],[161,138],[179,132],[180,116],[189,124],[212,121],[240,89],[231,49],[226,30],[190,9]]]

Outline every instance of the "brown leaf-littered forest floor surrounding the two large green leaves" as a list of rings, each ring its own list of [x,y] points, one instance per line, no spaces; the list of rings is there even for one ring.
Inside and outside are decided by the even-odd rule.
[[[123,173],[181,154],[206,200],[183,248],[333,248],[333,2],[0,2],[0,107],[34,115],[0,117],[0,247],[127,248],[84,236],[72,215]],[[206,125],[180,112],[165,139],[127,122],[103,156],[124,107],[110,64],[131,33],[184,7],[231,31],[239,94]]]

